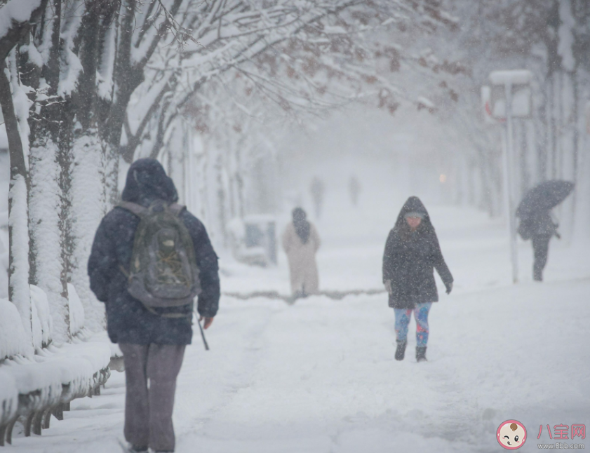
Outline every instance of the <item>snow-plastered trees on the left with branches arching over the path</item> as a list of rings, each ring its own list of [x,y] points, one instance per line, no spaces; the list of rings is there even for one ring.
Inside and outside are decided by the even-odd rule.
[[[8,0],[0,15],[9,297],[31,332],[29,283],[46,292],[58,341],[72,336],[69,282],[87,327],[104,323],[86,260],[128,163],[173,162],[196,128],[217,150],[201,179],[239,215],[265,119],[361,97],[393,112],[403,91],[385,74],[420,58],[387,36],[456,27],[438,0]]]

